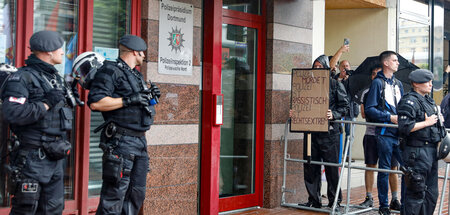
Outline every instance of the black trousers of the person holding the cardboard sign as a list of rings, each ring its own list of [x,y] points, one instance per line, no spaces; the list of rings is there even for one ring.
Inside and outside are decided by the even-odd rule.
[[[306,139],[306,138],[305,138]],[[303,144],[303,154],[306,157],[306,141]],[[311,160],[339,163],[339,133],[312,133],[311,134]],[[308,201],[313,205],[321,204],[320,188],[322,186],[321,165],[304,164],[304,179],[308,191]],[[339,167],[325,166],[327,178],[327,196],[329,205],[333,204],[339,181]],[[339,191],[338,203],[342,200]]]

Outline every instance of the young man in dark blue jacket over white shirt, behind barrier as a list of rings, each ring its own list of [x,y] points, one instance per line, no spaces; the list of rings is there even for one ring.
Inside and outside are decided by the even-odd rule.
[[[403,95],[403,85],[394,77],[394,73],[399,65],[397,54],[393,51],[384,51],[380,54],[380,62],[383,70],[372,81],[364,112],[366,117],[372,122],[397,124],[397,104]],[[390,169],[393,155],[402,164],[398,143],[398,129],[376,127],[375,135],[377,136],[378,167]],[[380,214],[390,214],[388,175],[389,173],[378,173],[377,188]],[[393,196],[392,200],[391,208],[399,209],[400,203],[395,196]]]

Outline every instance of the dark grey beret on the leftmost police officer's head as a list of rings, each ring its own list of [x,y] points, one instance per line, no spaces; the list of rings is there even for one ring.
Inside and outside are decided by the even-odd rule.
[[[38,31],[30,38],[31,51],[52,52],[61,48],[64,39],[55,31]]]

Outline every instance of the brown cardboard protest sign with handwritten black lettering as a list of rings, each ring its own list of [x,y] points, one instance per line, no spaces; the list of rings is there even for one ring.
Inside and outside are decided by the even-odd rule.
[[[292,69],[291,131],[328,131],[330,71]]]

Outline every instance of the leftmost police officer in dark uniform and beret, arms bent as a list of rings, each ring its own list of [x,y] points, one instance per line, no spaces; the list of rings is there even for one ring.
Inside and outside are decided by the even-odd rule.
[[[66,133],[73,113],[54,67],[63,61],[63,43],[57,32],[34,33],[26,66],[9,76],[2,94],[3,116],[20,142],[9,167],[11,214],[62,214],[64,208]]]

